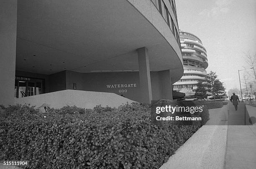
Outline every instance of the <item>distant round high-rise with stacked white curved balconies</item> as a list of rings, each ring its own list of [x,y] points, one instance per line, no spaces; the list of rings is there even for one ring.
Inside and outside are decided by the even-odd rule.
[[[208,60],[202,41],[194,34],[179,30],[182,47],[184,74],[174,83],[173,89],[187,94],[194,94],[197,82],[204,81]]]

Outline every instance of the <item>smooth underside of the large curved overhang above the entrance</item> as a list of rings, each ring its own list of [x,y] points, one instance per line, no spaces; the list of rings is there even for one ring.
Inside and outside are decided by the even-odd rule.
[[[150,70],[183,74],[164,37],[127,0],[18,0],[16,69],[41,74],[138,70],[148,48]]]

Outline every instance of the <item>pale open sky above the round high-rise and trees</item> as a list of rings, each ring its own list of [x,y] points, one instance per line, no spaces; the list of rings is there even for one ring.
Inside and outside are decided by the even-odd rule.
[[[238,70],[250,68],[246,53],[256,54],[256,0],[175,2],[179,29],[197,35],[207,50],[207,73],[216,72],[226,90],[240,89]],[[252,69],[240,71],[240,76],[244,73]],[[241,84],[243,88],[242,78]]]

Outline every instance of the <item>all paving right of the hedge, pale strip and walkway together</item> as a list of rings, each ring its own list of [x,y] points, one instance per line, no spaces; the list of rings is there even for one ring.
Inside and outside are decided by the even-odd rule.
[[[246,109],[247,108],[247,109]],[[210,120],[160,169],[255,169],[256,126],[249,118],[256,107],[232,103],[210,109]],[[246,125],[244,125],[246,122]]]

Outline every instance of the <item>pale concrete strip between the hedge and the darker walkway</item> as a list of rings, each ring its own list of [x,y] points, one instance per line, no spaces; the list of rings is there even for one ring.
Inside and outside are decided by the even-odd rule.
[[[210,120],[160,169],[223,169],[227,143],[228,106],[210,109]],[[219,125],[212,125],[219,124]]]

